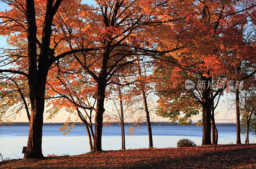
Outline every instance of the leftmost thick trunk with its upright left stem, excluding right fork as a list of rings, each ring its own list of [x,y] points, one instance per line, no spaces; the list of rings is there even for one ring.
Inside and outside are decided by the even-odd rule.
[[[28,85],[31,115],[29,120],[28,144],[24,158],[44,158],[42,153],[42,131],[46,76],[40,77],[37,74],[36,15],[34,1],[26,1],[26,11],[28,25]]]

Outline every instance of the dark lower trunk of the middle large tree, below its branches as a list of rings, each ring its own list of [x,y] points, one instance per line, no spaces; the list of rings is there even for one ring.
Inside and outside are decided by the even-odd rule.
[[[101,82],[98,83],[97,89],[97,105],[95,113],[95,129],[94,129],[94,141],[93,141],[93,151],[102,151],[101,148],[101,135],[102,135],[102,125],[103,125],[103,113],[104,100],[105,100],[105,84]]]

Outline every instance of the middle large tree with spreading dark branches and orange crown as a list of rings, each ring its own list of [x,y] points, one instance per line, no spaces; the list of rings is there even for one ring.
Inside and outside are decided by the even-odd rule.
[[[92,52],[80,52],[73,54],[73,56],[79,67],[83,69],[84,74],[89,75],[94,85],[97,86],[93,150],[102,151],[101,134],[105,111],[104,102],[106,95],[109,94],[106,91],[107,86],[112,83],[120,86],[131,84],[131,81],[126,81],[126,75],[122,76],[117,73],[121,68],[129,67],[129,69],[125,69],[127,74],[130,74],[129,76],[137,74],[130,65],[141,60],[141,57],[151,53],[168,53],[181,48],[174,45],[171,50],[151,50],[148,46],[156,47],[157,41],[165,39],[168,35],[161,32],[163,36],[159,36],[159,34],[148,36],[149,34],[145,32],[150,32],[151,29],[155,29],[154,27],[161,24],[171,27],[171,24],[165,23],[184,20],[185,17],[178,17],[182,14],[182,12],[180,14],[179,9],[183,10],[187,4],[180,3],[180,1],[177,1],[177,4],[168,4],[166,1],[147,1],[142,4],[140,1],[111,0],[97,1],[97,3],[96,8],[91,7],[82,10],[82,13],[86,15],[81,15],[83,17],[81,22],[87,23],[85,25],[90,29],[84,32],[83,27],[81,27],[78,32],[74,32],[74,34],[79,35],[75,39],[75,43],[68,41],[68,44],[71,50],[74,47],[82,49],[86,45],[99,49]],[[166,15],[167,12],[168,15]],[[65,20],[65,22],[67,25],[72,24],[71,20]],[[67,32],[69,33],[66,34],[66,39],[73,33],[72,29],[68,29]],[[120,77],[121,83],[115,81],[114,77],[116,76]]]

